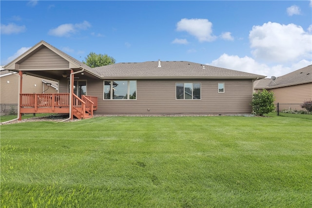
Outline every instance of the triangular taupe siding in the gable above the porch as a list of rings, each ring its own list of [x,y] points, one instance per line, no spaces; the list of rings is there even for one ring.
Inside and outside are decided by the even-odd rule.
[[[46,47],[20,63],[20,70],[57,68],[69,68],[69,62]]]

